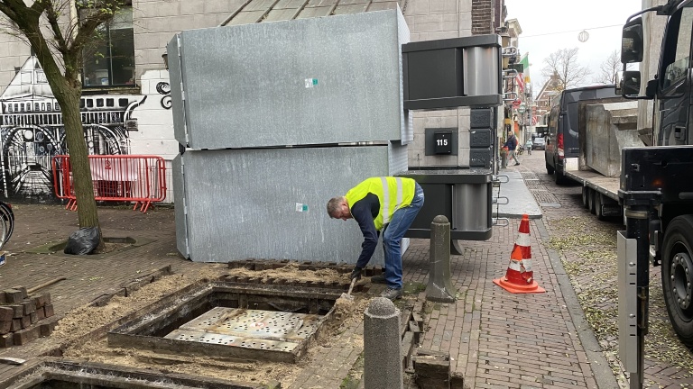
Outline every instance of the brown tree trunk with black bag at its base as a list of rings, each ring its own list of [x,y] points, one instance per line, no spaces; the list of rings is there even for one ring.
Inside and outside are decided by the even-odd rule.
[[[65,135],[68,141],[69,165],[72,169],[72,183],[77,195],[77,213],[79,227],[97,227],[101,237],[101,226],[98,223],[97,202],[94,200],[94,184],[91,180],[91,168],[89,167],[87,142],[84,138],[82,119],[79,112],[79,98],[81,91],[66,87],[62,93],[56,94],[60,103],[62,121],[65,125]],[[62,98],[57,98],[60,95]],[[60,101],[65,100],[65,101]],[[99,243],[103,246],[103,237]]]

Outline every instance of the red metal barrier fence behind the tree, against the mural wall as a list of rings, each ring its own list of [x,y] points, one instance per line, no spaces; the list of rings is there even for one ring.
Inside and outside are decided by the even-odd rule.
[[[53,157],[55,195],[67,199],[66,209],[77,210],[69,156]],[[133,210],[147,212],[166,197],[166,165],[161,157],[142,155],[90,155],[91,179],[97,201],[134,202]]]

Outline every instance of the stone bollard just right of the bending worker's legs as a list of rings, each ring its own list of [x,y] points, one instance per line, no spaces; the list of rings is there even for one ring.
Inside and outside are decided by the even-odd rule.
[[[450,222],[438,215],[430,223],[430,266],[426,300],[454,303],[455,288],[450,279]]]

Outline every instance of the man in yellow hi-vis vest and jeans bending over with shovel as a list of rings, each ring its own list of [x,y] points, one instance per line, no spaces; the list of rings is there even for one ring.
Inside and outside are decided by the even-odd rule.
[[[384,276],[373,276],[371,282],[386,284],[380,294],[392,301],[402,298],[402,238],[423,206],[423,189],[411,178],[371,177],[328,201],[332,219],[354,219],[364,234],[361,254],[351,272],[360,279],[373,257],[378,238],[383,235]]]

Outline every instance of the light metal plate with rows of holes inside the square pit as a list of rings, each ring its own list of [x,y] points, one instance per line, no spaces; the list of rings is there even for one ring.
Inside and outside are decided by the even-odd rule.
[[[216,307],[164,338],[241,348],[291,351],[316,330],[324,316]]]

